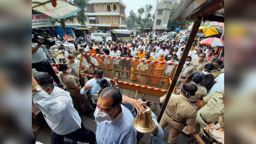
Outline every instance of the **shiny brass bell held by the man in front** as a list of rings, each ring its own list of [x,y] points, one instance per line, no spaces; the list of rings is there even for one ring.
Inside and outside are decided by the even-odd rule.
[[[155,130],[156,125],[151,117],[151,108],[147,107],[144,114],[138,114],[133,119],[133,127],[143,134],[152,133]]]

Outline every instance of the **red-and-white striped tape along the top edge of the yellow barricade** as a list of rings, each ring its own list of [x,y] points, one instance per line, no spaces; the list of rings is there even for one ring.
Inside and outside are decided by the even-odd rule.
[[[102,54],[92,54],[92,53],[82,53],[82,54],[83,55],[89,55],[89,56],[106,57],[106,58],[113,58],[113,59],[119,59],[119,60],[144,62],[144,63],[153,63],[153,64],[164,64],[164,65],[172,65],[173,64],[173,63],[166,63],[166,62],[149,61],[149,60],[142,60],[142,59],[133,59],[133,58],[128,58],[128,57],[118,57],[118,56],[111,56],[111,55],[102,55]]]

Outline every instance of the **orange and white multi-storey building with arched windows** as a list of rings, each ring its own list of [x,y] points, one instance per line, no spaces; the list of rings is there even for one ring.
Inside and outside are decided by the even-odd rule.
[[[99,30],[125,29],[125,8],[121,0],[90,0],[86,7],[85,26]]]

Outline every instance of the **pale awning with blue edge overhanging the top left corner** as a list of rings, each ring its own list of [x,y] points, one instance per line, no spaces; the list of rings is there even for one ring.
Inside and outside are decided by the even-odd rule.
[[[63,0],[57,0],[57,6],[54,8],[51,2],[52,0],[32,0],[32,9],[56,19],[73,16],[82,10],[80,7]]]

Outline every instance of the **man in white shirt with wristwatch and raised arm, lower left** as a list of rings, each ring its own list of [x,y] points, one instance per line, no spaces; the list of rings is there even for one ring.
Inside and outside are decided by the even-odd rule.
[[[52,130],[51,144],[64,144],[65,137],[74,143],[95,143],[94,132],[84,127],[69,92],[54,87],[50,74],[32,73],[32,99]]]

